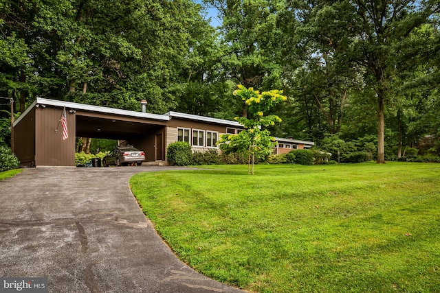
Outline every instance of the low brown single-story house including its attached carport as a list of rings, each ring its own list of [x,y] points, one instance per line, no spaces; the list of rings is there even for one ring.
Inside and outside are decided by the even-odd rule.
[[[63,108],[68,134],[64,139]],[[187,141],[194,151],[217,149],[221,134],[241,129],[238,122],[224,119],[178,112],[156,115],[39,97],[14,122],[14,149],[21,165],[75,166],[76,137],[118,139],[144,150],[147,163],[162,165],[170,143]],[[311,141],[276,140],[274,154],[314,145]]]

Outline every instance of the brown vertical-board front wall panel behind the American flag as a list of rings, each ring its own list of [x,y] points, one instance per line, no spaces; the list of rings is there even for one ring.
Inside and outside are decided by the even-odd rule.
[[[36,109],[36,166],[75,165],[75,114],[67,111],[69,138],[63,140],[63,127],[58,125],[62,113],[63,108]]]

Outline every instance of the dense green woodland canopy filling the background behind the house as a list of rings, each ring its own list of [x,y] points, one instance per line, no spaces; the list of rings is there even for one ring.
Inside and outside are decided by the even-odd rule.
[[[248,115],[236,83],[283,89],[272,134],[368,138],[382,163],[440,145],[439,13],[438,0],[1,0],[0,96],[15,112],[38,95],[233,119]]]

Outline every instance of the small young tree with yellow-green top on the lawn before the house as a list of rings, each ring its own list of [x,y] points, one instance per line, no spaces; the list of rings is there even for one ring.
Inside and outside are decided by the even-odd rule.
[[[236,117],[245,130],[238,134],[224,134],[218,144],[220,149],[225,152],[239,152],[248,155],[248,174],[254,175],[255,159],[267,156],[272,152],[275,145],[275,139],[270,136],[270,131],[263,127],[273,126],[281,119],[276,115],[267,115],[264,113],[270,110],[272,106],[285,101],[287,97],[282,95],[283,91],[272,90],[254,91],[252,87],[247,89],[239,84],[234,95],[241,99],[248,106],[247,117]],[[252,167],[251,167],[252,166]]]

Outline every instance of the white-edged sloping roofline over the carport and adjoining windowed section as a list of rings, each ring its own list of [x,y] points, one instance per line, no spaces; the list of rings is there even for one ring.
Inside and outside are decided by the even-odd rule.
[[[137,117],[137,118],[145,118],[145,119],[155,119],[159,121],[170,121],[173,117],[179,118],[179,119],[188,119],[192,121],[203,121],[207,123],[212,124],[221,124],[226,126],[233,126],[233,127],[241,127],[241,124],[239,124],[237,121],[231,121],[231,120],[225,120],[225,119],[217,119],[217,118],[211,118],[211,117],[204,117],[199,115],[191,115],[186,113],[179,113],[179,112],[173,112],[170,111],[168,113],[165,113],[164,115],[159,114],[151,114],[151,113],[143,113],[140,111],[131,111],[131,110],[122,110],[118,108],[109,108],[109,107],[102,107],[102,106],[93,106],[88,104],[79,104],[74,102],[65,102],[60,101],[57,99],[45,99],[42,97],[37,97],[35,101],[30,104],[30,106],[20,115],[19,118],[14,122],[14,126],[16,126],[23,117],[28,115],[30,110],[37,105],[44,105],[44,106],[54,106],[54,107],[66,107],[67,110],[73,109],[73,110],[85,110],[92,113],[102,113],[102,114],[113,114],[113,115],[121,115],[124,117]]]

